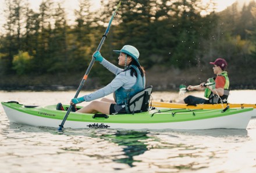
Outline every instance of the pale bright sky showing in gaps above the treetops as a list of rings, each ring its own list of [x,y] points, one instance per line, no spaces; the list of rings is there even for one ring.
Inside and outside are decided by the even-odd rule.
[[[28,0],[30,3],[30,7],[34,9],[35,11],[38,10],[40,3],[42,0]],[[63,6],[66,9],[67,13],[67,19],[72,20],[74,15],[74,9],[77,9],[79,6],[79,0],[55,0],[56,2],[64,2]],[[94,9],[99,8],[100,6],[100,0],[90,0],[91,4],[93,5]],[[203,0],[205,2],[208,2],[210,0]],[[215,0],[218,4],[217,11],[224,10],[227,6],[232,5],[232,3],[236,2],[236,0]],[[237,0],[240,3],[248,2],[250,0]],[[3,16],[3,9],[4,9],[4,2],[5,0],[0,0],[0,28],[3,26],[3,23],[5,23],[5,17]],[[2,33],[2,32],[1,32]]]

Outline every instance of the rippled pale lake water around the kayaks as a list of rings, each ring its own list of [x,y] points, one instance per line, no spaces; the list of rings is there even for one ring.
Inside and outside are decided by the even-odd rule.
[[[75,92],[0,91],[0,101],[69,103]],[[186,95],[191,93],[203,95]],[[184,97],[177,92],[152,96],[158,101]],[[256,90],[232,91],[229,102],[256,103]],[[64,128],[58,135],[56,129],[10,123],[0,106],[0,172],[256,172],[256,118],[246,130]]]

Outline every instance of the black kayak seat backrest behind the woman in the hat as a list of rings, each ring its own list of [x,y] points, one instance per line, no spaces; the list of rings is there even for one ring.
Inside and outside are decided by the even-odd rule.
[[[128,101],[128,110],[130,113],[140,113],[143,111],[148,111],[148,106],[150,104],[150,95],[152,93],[152,85],[137,92]]]

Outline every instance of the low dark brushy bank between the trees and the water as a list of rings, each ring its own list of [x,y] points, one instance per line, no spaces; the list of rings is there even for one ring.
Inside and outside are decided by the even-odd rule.
[[[237,74],[229,72],[230,90],[234,89],[256,89],[255,74]],[[173,67],[153,67],[146,70],[146,86],[152,85],[154,91],[179,91],[179,86],[198,85],[213,77],[209,69],[190,68],[186,70]],[[79,87],[82,73],[75,74],[30,74],[30,75],[1,75],[0,90],[2,91],[69,91]],[[85,90],[95,90],[105,87],[113,80],[115,75],[105,74],[104,77],[92,73],[83,86]]]

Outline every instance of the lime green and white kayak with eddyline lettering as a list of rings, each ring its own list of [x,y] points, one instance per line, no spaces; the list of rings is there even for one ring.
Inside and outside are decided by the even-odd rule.
[[[26,107],[18,103],[4,103],[3,109],[10,122],[36,127],[58,127],[66,111],[54,110],[56,105]],[[136,114],[94,116],[71,112],[65,128],[111,129],[246,129],[253,108],[222,110],[151,110]],[[166,111],[166,112],[163,112]]]

